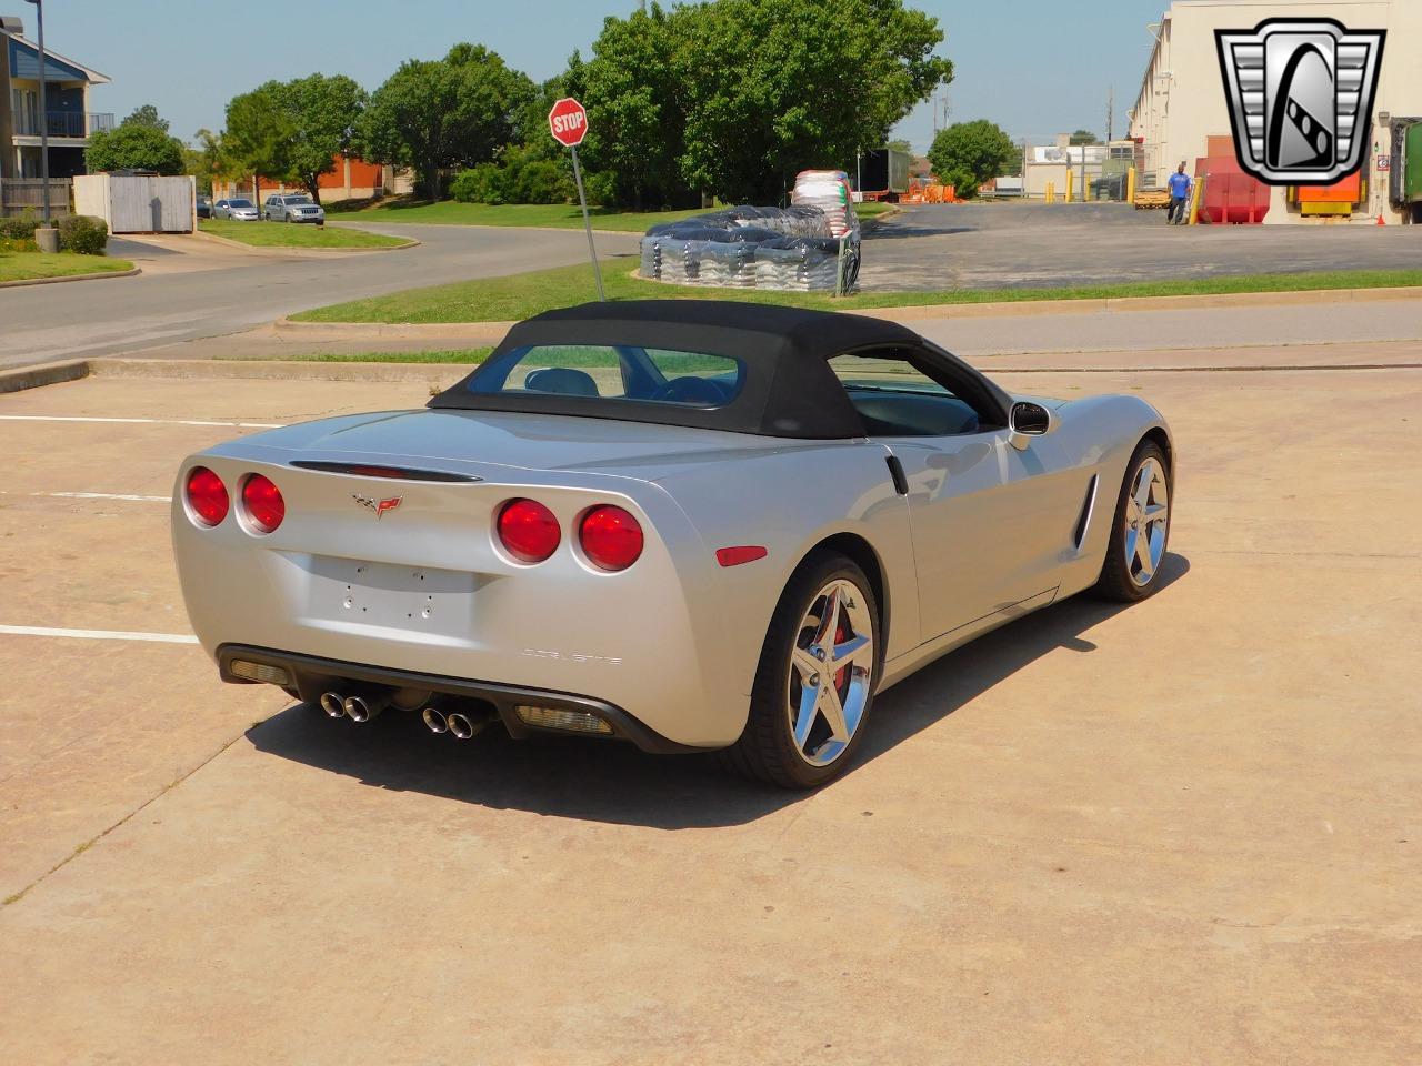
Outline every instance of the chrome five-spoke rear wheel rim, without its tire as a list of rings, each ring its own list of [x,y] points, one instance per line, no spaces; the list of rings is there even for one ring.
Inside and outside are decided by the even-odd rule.
[[[791,738],[811,766],[829,766],[855,739],[875,672],[875,620],[848,580],[823,586],[801,621],[786,689]]]

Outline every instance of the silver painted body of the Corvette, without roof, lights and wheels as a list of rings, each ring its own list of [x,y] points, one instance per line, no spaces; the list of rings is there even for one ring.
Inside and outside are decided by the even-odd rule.
[[[742,731],[786,581],[832,537],[857,539],[882,570],[880,688],[1096,580],[1126,463],[1148,432],[1167,431],[1135,397],[1039,402],[1054,431],[1025,449],[1005,429],[803,441],[488,411],[323,419],[189,456],[173,492],[173,549],[209,654],[255,645],[592,696],[677,745],[718,748]],[[479,480],[391,480],[296,461]],[[233,500],[215,529],[183,499],[196,465]],[[252,473],[286,500],[270,534],[237,515]],[[395,496],[380,515],[358,499]],[[563,530],[535,566],[510,559],[495,533],[499,507],[519,496],[552,509]],[[597,503],[643,526],[646,549],[626,571],[597,570],[576,546],[577,520]],[[718,566],[717,549],[747,544],[766,556]]]

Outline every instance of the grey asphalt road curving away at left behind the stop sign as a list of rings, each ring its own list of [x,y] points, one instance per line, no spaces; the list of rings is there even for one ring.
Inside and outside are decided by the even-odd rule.
[[[111,355],[215,337],[293,311],[397,289],[577,263],[579,230],[492,226],[368,226],[415,237],[401,252],[309,259],[253,254],[192,239],[162,244],[117,239],[109,254],[132,259],[134,279],[73,281],[0,291],[0,367]],[[189,252],[175,247],[186,246]],[[636,235],[597,235],[600,254],[633,252]]]

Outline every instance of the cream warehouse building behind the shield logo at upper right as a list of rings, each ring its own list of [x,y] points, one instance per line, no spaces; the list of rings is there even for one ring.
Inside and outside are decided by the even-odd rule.
[[[1130,111],[1130,136],[1140,145],[1140,185],[1163,186],[1180,162],[1193,173],[1197,159],[1224,154],[1226,138],[1234,156],[1214,33],[1251,31],[1266,18],[1331,18],[1352,31],[1385,30],[1388,36],[1372,111],[1359,115],[1355,126],[1355,135],[1365,138],[1362,182],[1348,179],[1349,192],[1337,193],[1331,203],[1324,190],[1273,188],[1264,222],[1375,222],[1379,216],[1388,223],[1422,222],[1422,0],[1176,0],[1150,26],[1156,41]],[[1409,145],[1413,158],[1406,179]]]

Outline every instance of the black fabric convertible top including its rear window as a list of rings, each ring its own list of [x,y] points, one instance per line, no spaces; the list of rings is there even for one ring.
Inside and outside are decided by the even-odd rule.
[[[931,378],[966,385],[954,392],[993,422],[1005,418],[1001,389],[897,323],[729,300],[545,311],[429,407],[842,441],[863,436],[865,419],[829,361],[889,347],[914,352]]]

